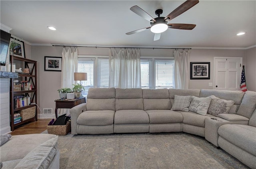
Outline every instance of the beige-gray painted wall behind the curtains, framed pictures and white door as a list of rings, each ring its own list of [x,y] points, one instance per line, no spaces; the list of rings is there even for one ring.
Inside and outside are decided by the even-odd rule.
[[[78,48],[78,55],[108,56],[108,50],[109,48]],[[173,57],[173,49],[140,49],[140,54],[141,56]],[[31,46],[31,59],[38,61],[38,105],[41,109],[52,108],[54,111],[54,100],[59,97],[57,90],[60,89],[61,72],[44,71],[44,56],[61,57],[62,47]],[[248,89],[256,91],[256,48],[249,50],[192,49],[190,62],[210,62],[211,70],[210,80],[189,80],[190,89],[213,89],[208,86],[208,83],[214,81],[214,57],[242,57],[243,65],[246,67]]]

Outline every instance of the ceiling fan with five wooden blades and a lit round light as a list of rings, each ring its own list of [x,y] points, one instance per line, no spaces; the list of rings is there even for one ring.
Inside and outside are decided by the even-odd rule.
[[[194,24],[167,24],[167,22],[169,22],[173,18],[176,18],[177,16],[179,16],[183,12],[186,12],[187,10],[189,10],[190,8],[192,8],[193,6],[198,4],[198,2],[199,2],[199,0],[187,0],[186,2],[184,2],[183,4],[178,6],[178,8],[173,10],[165,18],[160,17],[160,15],[163,13],[162,9],[156,10],[155,14],[158,16],[157,18],[152,18],[152,16],[150,16],[142,8],[140,8],[138,6],[132,6],[130,8],[130,10],[132,12],[134,12],[135,14],[137,14],[138,16],[141,16],[142,18],[150,21],[151,26],[146,27],[146,28],[142,28],[142,29],[139,29],[139,30],[134,30],[132,32],[128,32],[128,33],[126,33],[126,35],[131,35],[131,34],[135,34],[135,33],[138,33],[138,32],[142,32],[142,31],[147,30],[147,29],[150,28],[151,32],[155,33],[154,41],[156,41],[156,40],[160,39],[161,33],[166,31],[168,28],[192,30],[194,27],[196,27],[196,25],[194,25]]]

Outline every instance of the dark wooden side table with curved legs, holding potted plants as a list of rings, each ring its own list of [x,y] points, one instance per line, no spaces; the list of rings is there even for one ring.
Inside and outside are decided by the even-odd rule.
[[[85,96],[84,97],[79,97],[77,99],[66,99],[66,100],[62,100],[62,99],[57,99],[54,100],[56,105],[55,105],[55,117],[58,118],[58,113],[57,110],[58,109],[71,109],[72,107],[85,103]]]

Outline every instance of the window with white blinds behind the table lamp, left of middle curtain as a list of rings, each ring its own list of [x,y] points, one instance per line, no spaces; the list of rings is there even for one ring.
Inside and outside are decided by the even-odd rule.
[[[108,58],[78,58],[77,72],[86,72],[87,81],[82,81],[84,91],[87,95],[90,87],[108,87],[109,66]]]

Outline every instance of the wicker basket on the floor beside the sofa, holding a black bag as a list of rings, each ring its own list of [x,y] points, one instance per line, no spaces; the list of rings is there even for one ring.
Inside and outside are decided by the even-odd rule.
[[[47,131],[49,134],[55,135],[67,135],[70,131],[70,121],[66,125],[47,125]]]

